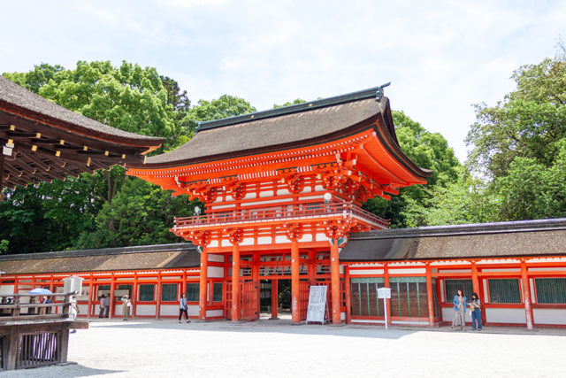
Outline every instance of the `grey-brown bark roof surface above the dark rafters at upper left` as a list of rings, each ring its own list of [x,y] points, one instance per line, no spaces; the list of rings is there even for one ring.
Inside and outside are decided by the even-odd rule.
[[[4,103],[4,104],[3,104]],[[163,138],[138,135],[91,120],[79,113],[72,112],[20,87],[0,75],[0,107],[33,115],[37,120],[57,123],[61,127],[81,135],[96,137],[113,143],[128,143],[140,147],[157,148]]]

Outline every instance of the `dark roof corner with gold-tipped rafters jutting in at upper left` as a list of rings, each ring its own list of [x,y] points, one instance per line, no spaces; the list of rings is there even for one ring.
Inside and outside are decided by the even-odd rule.
[[[143,163],[161,143],[71,112],[0,76],[0,189]]]

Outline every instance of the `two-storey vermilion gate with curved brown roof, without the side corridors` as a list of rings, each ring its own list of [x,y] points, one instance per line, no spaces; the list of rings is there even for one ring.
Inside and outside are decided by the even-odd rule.
[[[128,167],[128,174],[206,206],[206,215],[177,219],[172,228],[203,249],[201,320],[210,316],[204,284],[212,274],[209,257],[232,260],[228,272],[218,274],[232,277],[226,312],[237,321],[259,315],[260,266],[276,266],[267,263],[288,255],[293,322],[305,319],[302,298],[308,293],[302,286],[328,282],[335,324],[342,312],[339,240],[388,226],[361,204],[375,196],[390,198],[431,174],[399,148],[380,87],[203,122],[179,149]],[[330,266],[327,275],[307,276],[304,267],[323,262]],[[244,266],[252,267],[249,276]]]

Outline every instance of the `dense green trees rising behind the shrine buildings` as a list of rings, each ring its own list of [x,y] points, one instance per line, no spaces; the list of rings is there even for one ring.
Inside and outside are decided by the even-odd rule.
[[[164,137],[156,153],[187,142],[200,121],[256,111],[228,95],[193,106],[176,81],[127,62],[78,62],[73,69],[42,64],[4,76],[113,127]],[[516,90],[501,102],[476,105],[465,166],[440,134],[394,112],[402,150],[433,174],[426,185],[401,189],[391,201],[373,198],[364,208],[391,219],[394,228],[566,216],[565,51],[520,67],[512,78]],[[169,232],[172,218],[192,214],[195,206],[120,167],[4,193],[0,253],[179,241]]]

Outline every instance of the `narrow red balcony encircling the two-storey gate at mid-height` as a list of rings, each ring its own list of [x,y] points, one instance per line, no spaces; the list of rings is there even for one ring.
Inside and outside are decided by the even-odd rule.
[[[350,220],[369,229],[389,228],[390,221],[366,212],[353,203],[281,204],[279,206],[240,208],[211,212],[194,217],[175,218],[172,232],[226,227],[267,227],[287,222],[318,223],[325,220]]]

